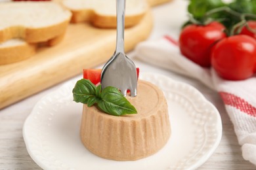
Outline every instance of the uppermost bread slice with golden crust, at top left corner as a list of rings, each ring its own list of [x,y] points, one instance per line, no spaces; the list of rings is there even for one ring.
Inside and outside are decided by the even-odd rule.
[[[20,38],[26,42],[45,42],[62,35],[72,14],[54,2],[0,3],[0,42]]]

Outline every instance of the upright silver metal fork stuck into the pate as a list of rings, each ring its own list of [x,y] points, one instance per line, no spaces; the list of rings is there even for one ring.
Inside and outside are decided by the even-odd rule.
[[[102,68],[101,86],[118,88],[124,96],[127,90],[137,95],[137,70],[135,64],[124,52],[125,0],[116,0],[117,34],[116,51]]]

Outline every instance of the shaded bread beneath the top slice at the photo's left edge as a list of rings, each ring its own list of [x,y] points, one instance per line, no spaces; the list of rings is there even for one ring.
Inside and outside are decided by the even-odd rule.
[[[28,59],[41,46],[54,46],[62,41],[64,34],[40,43],[28,43],[22,39],[11,39],[0,43],[0,65],[15,63]]]

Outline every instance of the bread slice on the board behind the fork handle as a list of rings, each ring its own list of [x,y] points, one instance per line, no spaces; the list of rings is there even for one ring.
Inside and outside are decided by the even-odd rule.
[[[62,0],[72,11],[72,22],[91,22],[96,27],[116,27],[116,0]],[[125,27],[140,22],[148,10],[146,0],[128,0],[125,9]]]

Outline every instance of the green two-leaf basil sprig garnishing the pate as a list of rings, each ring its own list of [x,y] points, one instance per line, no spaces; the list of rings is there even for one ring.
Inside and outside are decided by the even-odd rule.
[[[98,109],[114,116],[137,113],[135,107],[117,88],[109,86],[101,90],[101,85],[96,87],[84,78],[75,84],[73,97],[75,102],[87,104],[88,107],[97,104]]]

